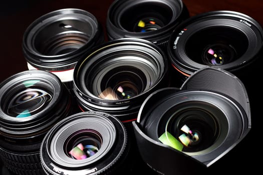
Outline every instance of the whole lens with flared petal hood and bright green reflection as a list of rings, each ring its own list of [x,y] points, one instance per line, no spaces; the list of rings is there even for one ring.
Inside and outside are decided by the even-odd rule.
[[[150,94],[132,125],[142,159],[155,171],[212,174],[209,167],[249,132],[249,100],[236,76],[205,67],[181,88]]]

